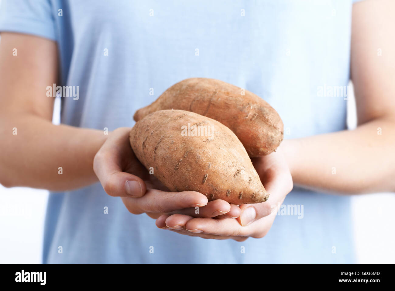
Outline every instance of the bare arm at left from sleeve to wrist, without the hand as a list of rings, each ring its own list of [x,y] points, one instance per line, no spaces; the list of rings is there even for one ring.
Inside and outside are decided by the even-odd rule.
[[[1,34],[0,182],[4,186],[61,191],[97,181],[93,158],[106,136],[100,130],[52,124],[54,98],[46,96],[46,87],[56,83],[57,70],[55,42]]]

